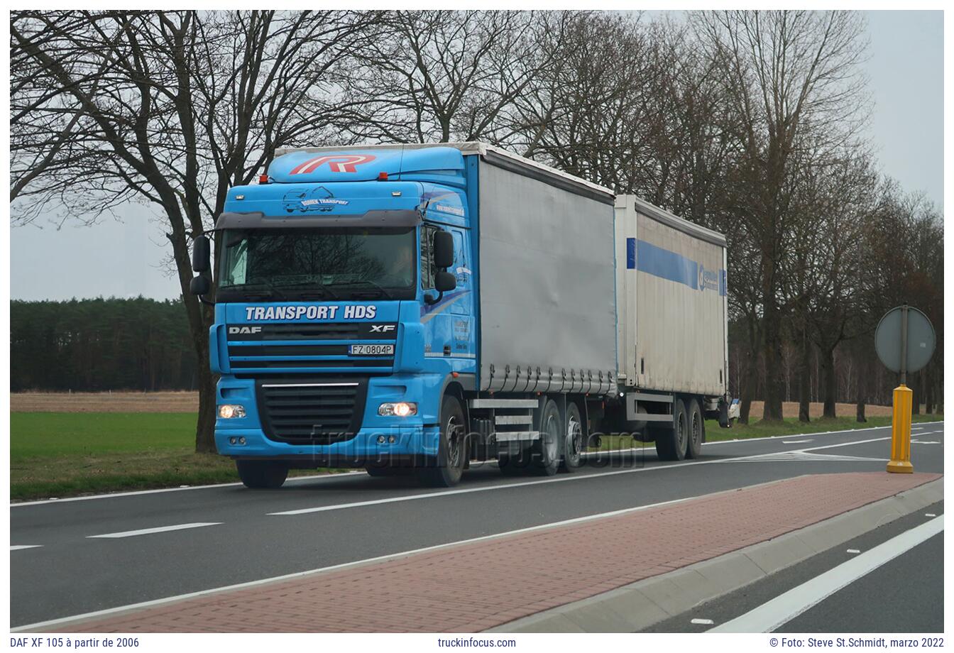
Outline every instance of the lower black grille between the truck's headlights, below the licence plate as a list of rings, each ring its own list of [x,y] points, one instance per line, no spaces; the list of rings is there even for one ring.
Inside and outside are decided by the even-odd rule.
[[[331,444],[354,438],[364,413],[366,378],[256,384],[265,436],[293,444]]]

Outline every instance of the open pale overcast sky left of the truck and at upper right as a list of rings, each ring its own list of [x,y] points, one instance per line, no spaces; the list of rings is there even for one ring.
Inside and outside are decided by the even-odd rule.
[[[944,13],[868,11],[875,103],[870,135],[881,168],[906,191],[923,191],[944,207]],[[130,205],[121,221],[93,227],[40,221],[10,234],[10,296],[70,299],[94,296],[178,296],[165,275],[161,225]]]

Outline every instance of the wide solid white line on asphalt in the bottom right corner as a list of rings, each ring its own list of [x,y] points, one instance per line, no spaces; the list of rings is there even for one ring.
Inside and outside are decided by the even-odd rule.
[[[709,632],[768,633],[790,622],[813,605],[824,601],[842,587],[859,580],[882,564],[892,561],[921,542],[944,530],[944,517],[937,517],[885,541],[857,558],[842,562],[811,581],[803,582],[736,619],[717,625]]]

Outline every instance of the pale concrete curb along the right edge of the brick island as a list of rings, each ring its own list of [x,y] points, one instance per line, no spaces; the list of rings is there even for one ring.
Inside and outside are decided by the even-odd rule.
[[[494,626],[485,632],[632,633],[771,576],[940,500],[944,500],[944,478],[773,540]]]

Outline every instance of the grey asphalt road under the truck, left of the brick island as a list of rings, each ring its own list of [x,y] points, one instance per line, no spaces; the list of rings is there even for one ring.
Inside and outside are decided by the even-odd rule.
[[[943,428],[915,427],[917,471],[943,472]],[[889,439],[885,427],[712,442],[701,459],[680,463],[647,449],[545,479],[504,478],[485,465],[439,491],[362,473],[289,480],[278,491],[230,485],[15,505],[10,625],[803,474],[883,471]]]

